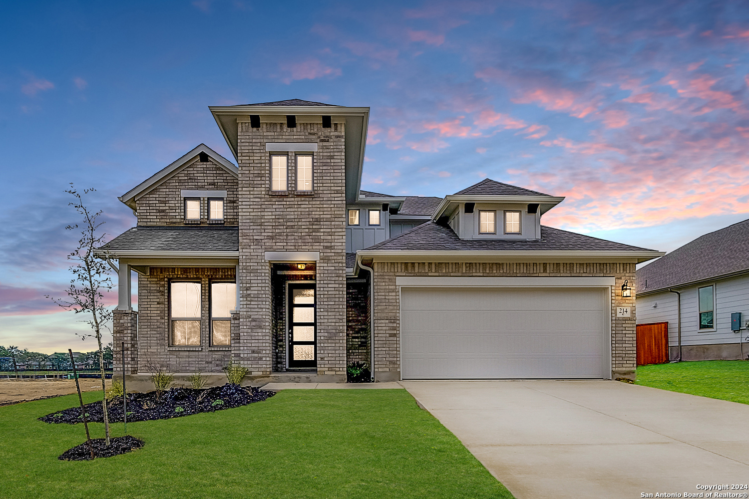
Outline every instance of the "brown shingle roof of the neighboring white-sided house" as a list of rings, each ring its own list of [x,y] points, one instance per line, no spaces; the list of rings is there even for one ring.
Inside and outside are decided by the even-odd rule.
[[[749,219],[688,242],[637,270],[640,293],[749,272]],[[647,281],[647,287],[645,286]]]

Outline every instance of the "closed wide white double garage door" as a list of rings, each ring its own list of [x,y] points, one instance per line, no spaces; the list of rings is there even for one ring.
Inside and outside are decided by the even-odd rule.
[[[404,379],[607,378],[601,288],[401,288]]]

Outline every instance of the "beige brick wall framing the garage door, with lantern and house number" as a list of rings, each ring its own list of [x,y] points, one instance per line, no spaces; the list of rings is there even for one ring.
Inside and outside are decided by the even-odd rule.
[[[622,298],[625,279],[634,290],[634,263],[375,263],[375,372],[400,373],[400,299],[398,276],[454,277],[614,277],[611,300],[611,369],[613,376],[634,376],[637,368],[634,293]],[[616,318],[616,307],[630,307],[631,317]]]

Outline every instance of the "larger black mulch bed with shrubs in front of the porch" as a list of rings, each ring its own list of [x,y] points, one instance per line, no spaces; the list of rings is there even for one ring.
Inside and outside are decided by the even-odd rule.
[[[157,419],[169,419],[170,417],[181,417],[201,412],[220,411],[240,405],[261,402],[268,397],[273,397],[276,392],[261,390],[256,387],[240,387],[229,385],[213,388],[172,388],[161,394],[157,400],[156,392],[148,394],[127,394],[127,420],[151,421]],[[94,423],[104,422],[104,411],[101,401],[91,402],[83,406],[86,419]],[[110,423],[121,423],[123,421],[122,397],[107,403]],[[81,408],[71,407],[64,411],[54,412],[39,418],[45,423],[82,423]]]

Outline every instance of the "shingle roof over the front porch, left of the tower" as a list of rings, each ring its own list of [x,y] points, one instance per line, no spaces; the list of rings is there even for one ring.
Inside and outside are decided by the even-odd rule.
[[[140,226],[102,246],[112,251],[239,251],[238,227]]]

